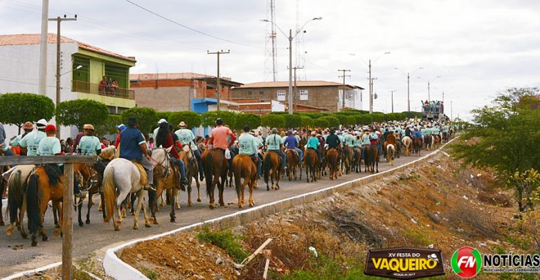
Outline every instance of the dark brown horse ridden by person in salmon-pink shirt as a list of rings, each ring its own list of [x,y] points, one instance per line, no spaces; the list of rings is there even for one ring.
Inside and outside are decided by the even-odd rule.
[[[204,177],[206,178],[206,194],[210,198],[210,209],[214,209],[214,192],[217,185],[219,190],[219,205],[225,206],[223,201],[224,184],[227,180],[228,160],[222,149],[206,149],[202,154]],[[219,182],[221,178],[221,182]]]

